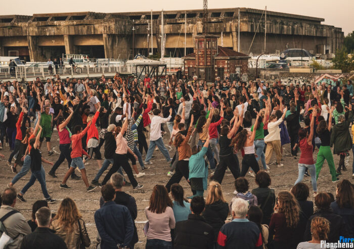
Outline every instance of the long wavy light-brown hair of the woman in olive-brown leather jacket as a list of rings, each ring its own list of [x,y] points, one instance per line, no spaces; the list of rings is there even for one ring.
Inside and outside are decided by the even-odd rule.
[[[60,226],[64,228],[64,230],[72,231],[73,225],[77,223],[78,219],[81,219],[82,216],[80,212],[77,210],[77,206],[75,201],[71,198],[65,198],[60,203],[58,213],[54,217],[54,219],[58,219],[58,223]]]

